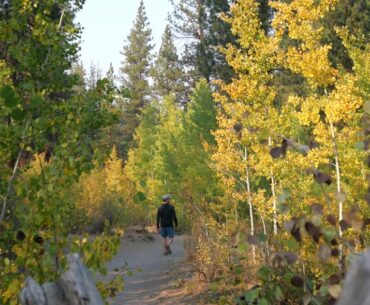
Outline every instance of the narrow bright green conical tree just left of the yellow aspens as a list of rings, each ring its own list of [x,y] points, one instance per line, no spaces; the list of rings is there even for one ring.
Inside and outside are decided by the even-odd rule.
[[[217,129],[216,103],[206,80],[194,89],[185,115],[184,131],[180,139],[181,192],[186,200],[209,204],[220,194],[216,172],[211,163],[215,148],[213,132]],[[190,207],[194,208],[194,207]]]

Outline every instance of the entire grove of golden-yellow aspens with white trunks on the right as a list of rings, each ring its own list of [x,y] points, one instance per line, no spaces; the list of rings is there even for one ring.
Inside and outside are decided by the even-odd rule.
[[[264,31],[256,1],[237,1],[225,19],[238,46],[224,50],[236,76],[230,83],[218,82],[215,93],[220,110],[214,160],[225,193],[248,205],[244,215],[252,236],[264,225],[253,215],[268,220],[272,264],[278,258],[295,265],[299,258],[301,266],[293,269],[314,282],[337,272],[338,262],[344,270],[344,258],[355,249],[350,240],[364,229],[359,215],[369,212],[359,78],[334,66],[332,46],[323,42],[321,21],[336,4],[273,1],[271,28]],[[302,90],[284,84],[287,78]],[[250,241],[255,257],[256,241]],[[356,249],[360,243],[355,239]],[[270,283],[271,278],[260,279]],[[304,286],[309,291],[304,303],[338,298],[339,288],[327,285],[327,294]],[[291,297],[278,303],[275,296],[270,303],[302,300]]]

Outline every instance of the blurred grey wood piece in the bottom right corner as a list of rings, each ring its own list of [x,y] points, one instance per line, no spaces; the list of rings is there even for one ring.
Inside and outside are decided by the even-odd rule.
[[[342,294],[336,305],[370,304],[370,250],[358,255],[344,279]]]

